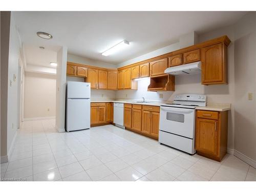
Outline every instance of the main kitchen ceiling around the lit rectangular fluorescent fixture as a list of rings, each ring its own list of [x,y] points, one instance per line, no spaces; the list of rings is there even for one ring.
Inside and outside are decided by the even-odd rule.
[[[202,34],[231,25],[244,14],[246,12],[15,12],[14,17],[24,45],[30,46],[27,51],[39,53],[32,46],[54,51],[67,46],[71,54],[117,64],[173,44],[182,34],[193,31]],[[53,39],[41,39],[36,36],[37,31],[48,32]],[[130,41],[130,46],[107,57],[101,55],[121,40]]]

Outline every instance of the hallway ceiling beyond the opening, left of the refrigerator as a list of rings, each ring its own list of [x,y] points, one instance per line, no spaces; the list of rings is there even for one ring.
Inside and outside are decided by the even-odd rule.
[[[25,57],[27,65],[44,66],[50,68],[50,62],[57,62],[57,52],[51,49],[39,49],[38,46],[25,45]]]

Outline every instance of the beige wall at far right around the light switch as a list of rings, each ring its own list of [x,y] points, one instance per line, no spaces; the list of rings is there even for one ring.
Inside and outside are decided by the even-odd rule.
[[[254,161],[256,168],[256,14],[250,12],[234,26],[234,149]],[[253,93],[253,100],[247,94]],[[249,159],[249,161],[250,161]]]

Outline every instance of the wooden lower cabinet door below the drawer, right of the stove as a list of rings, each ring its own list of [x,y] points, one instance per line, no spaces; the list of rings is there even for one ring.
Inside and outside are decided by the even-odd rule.
[[[216,156],[218,143],[218,121],[197,118],[196,150]]]

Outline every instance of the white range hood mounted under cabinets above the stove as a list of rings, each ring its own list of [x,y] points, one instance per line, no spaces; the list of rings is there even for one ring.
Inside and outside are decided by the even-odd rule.
[[[187,75],[201,73],[201,61],[192,62],[185,65],[167,68],[164,73],[171,75]]]

